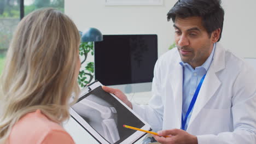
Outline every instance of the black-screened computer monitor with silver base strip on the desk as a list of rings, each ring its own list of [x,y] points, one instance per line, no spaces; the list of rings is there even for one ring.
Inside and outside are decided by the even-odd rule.
[[[125,93],[151,91],[158,59],[156,34],[103,35],[94,48],[96,80]]]

